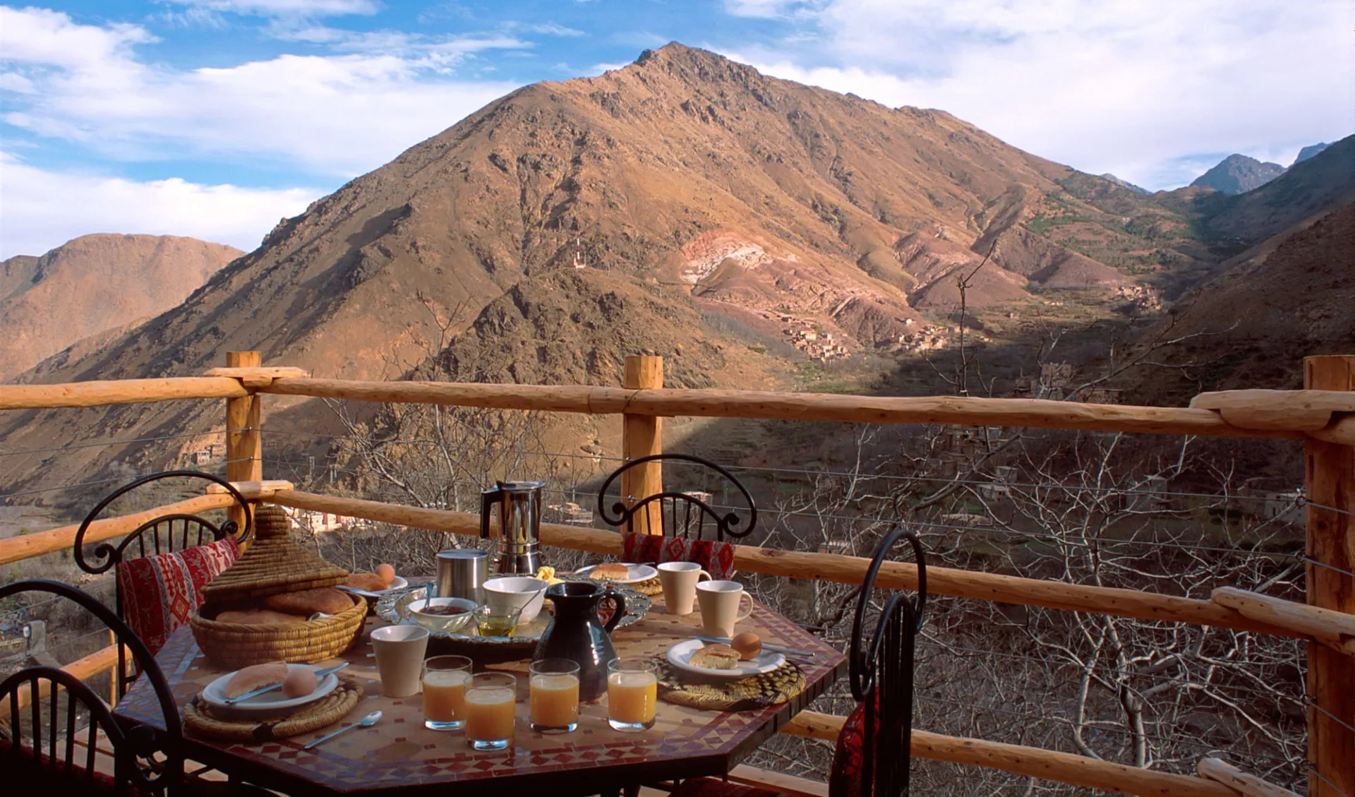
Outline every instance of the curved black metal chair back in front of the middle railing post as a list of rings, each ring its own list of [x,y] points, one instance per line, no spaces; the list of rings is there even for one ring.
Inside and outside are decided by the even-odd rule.
[[[734,485],[734,489],[737,489],[740,495],[744,496],[744,502],[748,504],[748,525],[744,526],[744,520],[738,516],[738,512],[730,510],[721,514],[706,502],[686,492],[660,492],[638,497],[638,500],[634,500],[634,503],[629,507],[625,500],[615,502],[611,504],[611,514],[608,514],[607,491],[611,488],[612,483],[621,478],[622,473],[646,462],[694,462],[720,473],[725,477],[725,480]],[[623,496],[623,499],[625,497],[631,496]],[[648,507],[653,503],[659,503],[659,512],[663,519],[665,537],[705,539],[705,535],[709,533],[717,541],[724,542],[726,537],[748,537],[752,534],[753,529],[757,527],[757,504],[753,503],[753,496],[749,495],[748,488],[745,488],[733,473],[725,470],[714,462],[710,462],[709,459],[702,459],[701,457],[690,457],[687,454],[653,454],[650,457],[640,457],[638,459],[631,459],[614,470],[607,480],[602,483],[602,489],[598,491],[598,514],[602,516],[603,523],[607,523],[608,526],[625,527],[626,531],[634,531],[635,515],[644,515],[648,512]]]

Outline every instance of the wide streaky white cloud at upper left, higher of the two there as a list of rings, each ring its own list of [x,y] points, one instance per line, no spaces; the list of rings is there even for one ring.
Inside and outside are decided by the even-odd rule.
[[[0,7],[0,62],[33,89],[8,98],[5,121],[16,127],[112,159],[225,156],[344,178],[516,88],[449,73],[472,53],[522,46],[511,37],[378,31],[351,41],[351,54],[184,72],[138,61],[131,46],[149,37],[136,26]],[[19,79],[4,77],[0,88],[24,88]]]

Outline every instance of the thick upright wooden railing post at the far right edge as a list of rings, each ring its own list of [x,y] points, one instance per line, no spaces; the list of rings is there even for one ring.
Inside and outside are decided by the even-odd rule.
[[[1355,355],[1304,359],[1304,386],[1355,390]],[[1308,603],[1355,614],[1355,446],[1309,439]],[[1321,506],[1317,506],[1321,504]],[[1331,507],[1331,508],[1324,508]],[[1321,563],[1321,564],[1314,564]],[[1328,565],[1328,567],[1322,567]],[[1310,797],[1355,794],[1355,657],[1308,644]]]

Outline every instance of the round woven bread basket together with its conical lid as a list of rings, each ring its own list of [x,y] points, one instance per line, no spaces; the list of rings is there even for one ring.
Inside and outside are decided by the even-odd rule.
[[[218,622],[218,611],[270,595],[341,584],[348,571],[335,567],[291,541],[291,520],[282,508],[263,506],[255,512],[255,539],[236,564],[202,588],[203,605],[188,626],[202,652],[218,667],[247,667],[266,661],[313,663],[333,659],[362,634],[367,602],[318,619],[287,625]]]

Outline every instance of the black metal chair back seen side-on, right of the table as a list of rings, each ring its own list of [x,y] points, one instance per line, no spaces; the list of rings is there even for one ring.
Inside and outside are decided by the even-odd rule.
[[[866,637],[866,614],[875,576],[900,539],[906,539],[917,561],[917,592],[912,599],[893,595],[879,613],[875,633]],[[909,748],[913,735],[913,656],[927,609],[927,557],[911,531],[893,529],[870,560],[856,598],[852,621],[851,694],[863,705],[862,797],[908,794]]]

